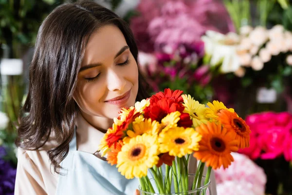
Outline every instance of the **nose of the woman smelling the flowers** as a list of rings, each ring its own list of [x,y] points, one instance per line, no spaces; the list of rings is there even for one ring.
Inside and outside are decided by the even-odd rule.
[[[121,72],[109,71],[107,79],[110,91],[124,91],[126,79]]]

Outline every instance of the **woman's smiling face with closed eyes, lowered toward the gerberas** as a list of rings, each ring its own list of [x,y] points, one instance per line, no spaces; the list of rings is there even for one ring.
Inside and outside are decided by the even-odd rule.
[[[123,33],[114,25],[95,31],[86,46],[74,100],[81,113],[113,118],[135,104],[138,67]]]

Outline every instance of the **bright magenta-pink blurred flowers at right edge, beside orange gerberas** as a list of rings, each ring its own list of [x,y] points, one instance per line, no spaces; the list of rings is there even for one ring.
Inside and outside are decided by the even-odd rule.
[[[284,154],[291,159],[292,115],[288,112],[257,113],[246,117],[252,131],[250,147],[240,150],[252,159],[274,159]]]

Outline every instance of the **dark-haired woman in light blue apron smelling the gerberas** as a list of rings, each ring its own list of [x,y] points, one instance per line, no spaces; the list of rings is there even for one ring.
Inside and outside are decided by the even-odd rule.
[[[148,96],[127,23],[91,1],[57,7],[40,26],[18,128],[16,195],[132,195],[98,151],[121,107]],[[195,164],[192,165],[195,171]]]

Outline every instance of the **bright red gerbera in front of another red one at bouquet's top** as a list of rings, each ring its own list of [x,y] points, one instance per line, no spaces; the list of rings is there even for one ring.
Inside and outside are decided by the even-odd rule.
[[[161,122],[167,114],[175,111],[183,112],[183,110],[184,107],[182,104],[176,103],[168,98],[162,98],[158,100],[157,103],[150,103],[150,105],[144,109],[144,117],[151,118],[152,121],[156,120]]]

